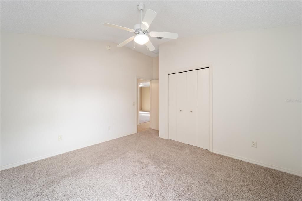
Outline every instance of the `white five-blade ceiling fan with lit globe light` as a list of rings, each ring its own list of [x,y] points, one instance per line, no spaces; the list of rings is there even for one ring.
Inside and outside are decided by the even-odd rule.
[[[149,32],[148,29],[150,27],[150,24],[152,23],[152,21],[154,20],[154,18],[156,16],[156,12],[148,9],[146,11],[144,18],[142,19],[142,12],[144,10],[144,7],[145,7],[144,4],[137,5],[137,9],[140,11],[140,22],[141,23],[135,24],[134,29],[130,29],[127,27],[121,27],[121,26],[118,26],[115,24],[104,23],[104,25],[108,26],[108,27],[114,27],[114,28],[123,29],[123,30],[135,33],[135,36],[132,36],[132,37],[128,38],[127,40],[123,41],[122,43],[118,44],[117,47],[122,47],[122,46],[126,45],[127,43],[131,42],[132,40],[134,40],[135,43],[138,43],[141,45],[146,44],[149,51],[154,51],[155,47],[149,40],[148,35],[151,37],[160,37],[160,38],[170,38],[170,39],[178,38],[178,34],[175,34],[175,33],[159,32],[159,31],[150,31]],[[134,45],[134,48],[135,48],[135,45]]]

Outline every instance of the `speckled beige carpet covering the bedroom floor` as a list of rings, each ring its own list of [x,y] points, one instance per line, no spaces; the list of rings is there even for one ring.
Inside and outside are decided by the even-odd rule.
[[[158,131],[0,172],[1,200],[301,200],[302,178],[172,140]]]

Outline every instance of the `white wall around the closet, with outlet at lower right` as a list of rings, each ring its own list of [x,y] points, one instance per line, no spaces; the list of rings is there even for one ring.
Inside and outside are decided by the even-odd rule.
[[[300,26],[179,38],[159,54],[161,137],[165,72],[213,63],[213,151],[301,174],[301,103],[285,102],[301,98]]]

